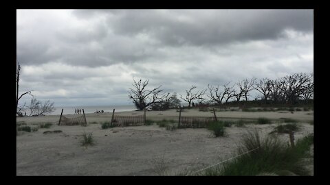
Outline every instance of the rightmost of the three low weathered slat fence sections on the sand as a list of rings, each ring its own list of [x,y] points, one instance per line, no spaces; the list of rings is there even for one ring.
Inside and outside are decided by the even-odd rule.
[[[179,128],[204,128],[211,121],[215,121],[215,118],[181,116]]]

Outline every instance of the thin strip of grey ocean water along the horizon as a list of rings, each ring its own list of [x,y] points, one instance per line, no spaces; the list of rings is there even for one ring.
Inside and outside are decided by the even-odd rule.
[[[136,110],[135,106],[133,105],[126,105],[126,106],[77,106],[77,107],[56,107],[56,110],[50,114],[46,115],[61,115],[61,111],[63,109],[63,114],[74,114],[74,110],[78,108],[81,109],[81,114],[83,114],[83,109],[85,114],[94,113],[96,110],[104,110],[104,112],[125,112],[125,111],[132,111]],[[27,112],[28,113],[28,112]]]

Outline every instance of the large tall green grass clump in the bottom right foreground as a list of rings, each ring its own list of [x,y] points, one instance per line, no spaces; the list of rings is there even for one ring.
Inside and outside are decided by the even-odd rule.
[[[298,140],[295,147],[290,147],[277,136],[261,138],[257,131],[248,132],[234,153],[237,158],[206,169],[201,175],[309,175],[302,159],[308,156],[313,138],[313,135],[306,136]],[[245,153],[247,151],[250,152]]]

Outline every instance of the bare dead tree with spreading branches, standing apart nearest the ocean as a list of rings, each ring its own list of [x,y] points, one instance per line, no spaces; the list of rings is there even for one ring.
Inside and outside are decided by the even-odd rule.
[[[149,79],[144,80],[144,82],[140,79],[136,82],[133,78],[133,81],[133,88],[129,88],[129,98],[133,100],[133,103],[138,110],[143,110],[144,108],[155,103],[162,103],[169,95],[169,93],[164,94],[162,93],[163,90],[159,90],[161,86],[153,88],[153,90],[146,90]]]

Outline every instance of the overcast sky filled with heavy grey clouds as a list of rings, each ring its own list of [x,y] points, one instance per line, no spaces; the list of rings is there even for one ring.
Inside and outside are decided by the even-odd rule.
[[[192,85],[311,73],[314,12],[17,10],[17,61],[20,94],[56,107],[127,105],[133,77],[179,96]]]

